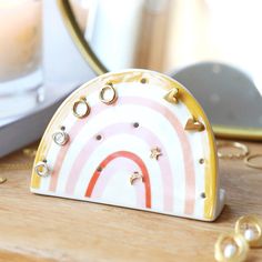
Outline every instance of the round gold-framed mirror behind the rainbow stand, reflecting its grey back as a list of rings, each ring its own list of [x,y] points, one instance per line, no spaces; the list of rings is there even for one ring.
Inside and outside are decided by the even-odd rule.
[[[200,101],[223,138],[262,140],[260,0],[58,0],[98,73],[169,74]]]

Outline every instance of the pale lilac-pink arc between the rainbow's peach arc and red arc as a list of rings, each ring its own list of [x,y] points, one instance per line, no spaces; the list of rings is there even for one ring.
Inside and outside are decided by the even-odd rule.
[[[161,141],[158,139],[155,134],[153,134],[150,130],[144,127],[139,127],[138,129],[133,128],[131,123],[115,123],[108,125],[103,130],[100,130],[99,133],[105,139],[109,139],[113,135],[119,134],[132,134],[141,138],[149,145],[149,155],[151,147],[159,147],[162,150],[163,157],[159,159],[159,165],[161,169],[161,179],[163,184],[163,199],[164,199],[164,210],[167,212],[172,212],[173,210],[173,178],[172,170],[169,161],[169,155],[162,145]],[[73,194],[75,184],[79,180],[79,177],[84,168],[84,164],[88,162],[89,158],[92,155],[93,151],[100,145],[101,142],[97,141],[95,138],[90,139],[80,151],[79,155],[77,155],[77,160],[74,161],[69,178],[67,181],[66,192],[67,194]],[[148,155],[148,157],[149,157]]]

